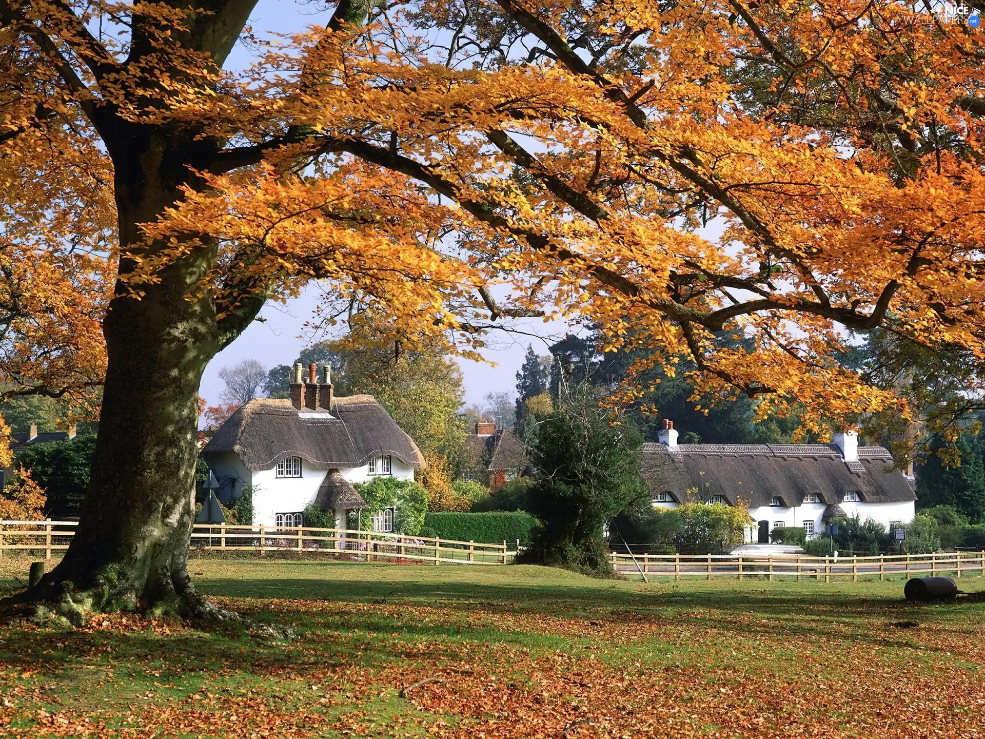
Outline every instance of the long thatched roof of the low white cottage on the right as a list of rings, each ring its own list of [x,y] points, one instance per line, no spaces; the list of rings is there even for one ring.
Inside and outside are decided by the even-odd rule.
[[[913,488],[882,446],[859,448],[858,462],[842,460],[833,444],[643,444],[640,471],[651,492],[676,501],[742,498],[751,507],[779,498],[784,506],[814,494],[824,504],[856,491],[864,503],[914,501]],[[691,494],[688,491],[696,491]]]

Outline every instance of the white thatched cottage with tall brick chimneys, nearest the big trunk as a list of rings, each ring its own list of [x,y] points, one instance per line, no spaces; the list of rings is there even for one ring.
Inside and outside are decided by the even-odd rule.
[[[371,395],[336,397],[328,365],[320,372],[310,365],[306,381],[295,365],[294,379],[290,400],[249,401],[202,453],[222,485],[221,501],[252,487],[254,524],[299,526],[304,508],[316,504],[345,528],[349,512],[365,506],[354,483],[413,480],[424,457]],[[378,528],[386,530],[385,521]]]

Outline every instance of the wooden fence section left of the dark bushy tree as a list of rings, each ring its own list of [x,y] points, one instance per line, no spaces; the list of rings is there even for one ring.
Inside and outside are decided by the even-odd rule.
[[[53,552],[68,549],[76,521],[0,521],[0,558],[6,552]],[[475,541],[405,536],[378,531],[312,528],[307,526],[192,527],[193,550],[209,552],[306,553],[342,556],[365,562],[404,560],[442,565],[506,565],[513,561],[520,543],[486,544]]]

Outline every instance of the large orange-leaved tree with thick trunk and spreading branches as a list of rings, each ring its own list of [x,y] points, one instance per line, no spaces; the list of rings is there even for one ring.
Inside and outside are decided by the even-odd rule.
[[[797,403],[818,430],[898,402],[833,360],[845,328],[985,349],[985,47],[960,19],[869,0],[344,0],[226,71],[252,7],[0,0],[0,74],[24,91],[2,154],[45,139],[111,172],[118,263],[82,521],[24,600],[220,615],[185,570],[199,379],[311,279],[334,291],[329,320],[463,353],[503,317],[581,316],[638,370],[687,355],[700,393]],[[22,200],[78,207],[21,172]]]

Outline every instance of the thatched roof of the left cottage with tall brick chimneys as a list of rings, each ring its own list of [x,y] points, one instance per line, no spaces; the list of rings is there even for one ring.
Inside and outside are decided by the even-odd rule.
[[[424,457],[371,395],[335,398],[331,413],[300,413],[290,400],[254,398],[233,413],[202,449],[234,451],[251,470],[269,470],[286,457],[303,457],[318,469],[361,467],[391,454],[421,469]]]

